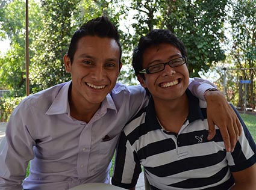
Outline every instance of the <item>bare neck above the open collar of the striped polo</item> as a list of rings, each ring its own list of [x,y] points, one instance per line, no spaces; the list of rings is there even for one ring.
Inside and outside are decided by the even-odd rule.
[[[175,100],[155,102],[155,113],[164,129],[178,133],[189,115],[187,94]]]

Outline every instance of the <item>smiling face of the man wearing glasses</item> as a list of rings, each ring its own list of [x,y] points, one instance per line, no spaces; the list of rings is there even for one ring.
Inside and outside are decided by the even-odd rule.
[[[161,43],[151,46],[143,52],[143,69],[158,63],[166,63],[175,58],[183,57],[181,52],[171,44]],[[140,84],[148,88],[154,102],[175,100],[183,96],[189,85],[189,71],[186,64],[171,68],[166,65],[164,70],[153,74],[145,74],[145,79],[138,75]]]

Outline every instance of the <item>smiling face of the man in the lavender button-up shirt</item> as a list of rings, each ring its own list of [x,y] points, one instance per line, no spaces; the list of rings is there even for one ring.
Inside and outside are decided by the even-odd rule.
[[[71,98],[78,106],[98,108],[116,85],[122,64],[120,49],[111,38],[87,35],[77,44],[73,56],[64,56],[66,72],[72,76]]]

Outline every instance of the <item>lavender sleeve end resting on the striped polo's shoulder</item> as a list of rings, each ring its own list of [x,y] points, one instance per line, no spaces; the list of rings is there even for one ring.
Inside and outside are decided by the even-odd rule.
[[[205,100],[204,92],[209,88],[216,88],[216,86],[208,80],[204,80],[201,78],[189,78],[188,88],[194,96],[198,97],[201,100]]]

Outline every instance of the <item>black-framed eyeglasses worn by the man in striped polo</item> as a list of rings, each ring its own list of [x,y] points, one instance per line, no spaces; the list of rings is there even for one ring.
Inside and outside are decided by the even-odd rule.
[[[187,63],[187,57],[186,56],[179,57],[179,58],[175,58],[173,60],[170,60],[166,63],[155,64],[154,66],[150,66],[146,69],[141,70],[139,73],[143,73],[143,74],[157,73],[157,72],[161,72],[162,70],[164,70],[166,65],[169,65],[170,67],[178,67],[178,66],[181,66],[185,63]]]

